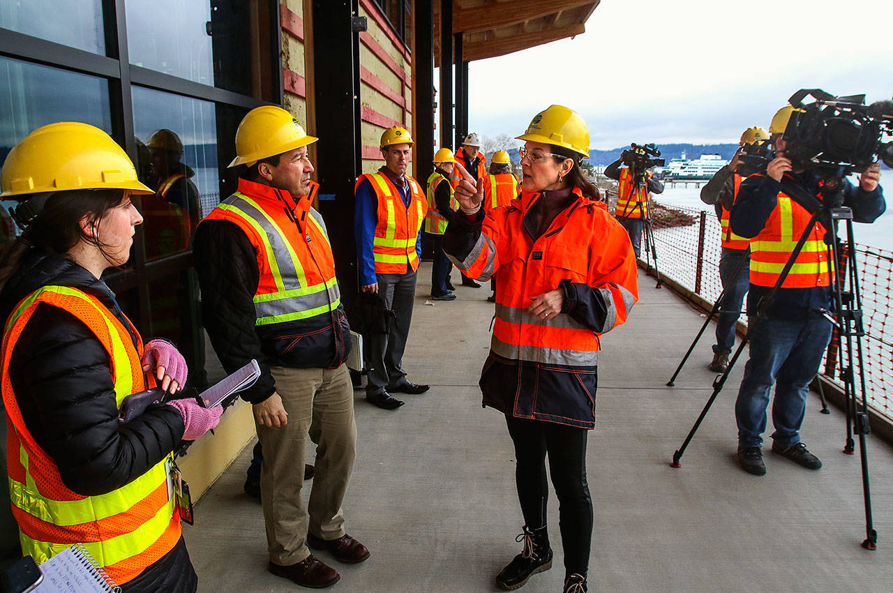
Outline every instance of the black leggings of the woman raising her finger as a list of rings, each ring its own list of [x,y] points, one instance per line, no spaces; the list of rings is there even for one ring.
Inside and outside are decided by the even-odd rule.
[[[546,526],[546,454],[558,497],[559,527],[567,574],[585,575],[592,540],[592,498],[586,483],[588,430],[505,416],[518,459],[515,482],[524,522],[530,529]]]

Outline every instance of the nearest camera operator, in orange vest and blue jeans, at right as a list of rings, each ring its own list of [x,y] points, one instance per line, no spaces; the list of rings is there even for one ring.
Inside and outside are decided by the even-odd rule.
[[[731,212],[731,229],[750,244],[748,312],[755,312],[763,296],[779,280],[812,215],[797,196],[818,196],[821,171],[800,170],[785,157],[789,140],[784,133],[794,107],[782,107],[772,118],[769,132],[775,158],[765,174],[751,175],[741,183]],[[886,209],[878,185],[880,166],[872,164],[860,176],[858,187],[844,181],[843,204],[852,208],[853,220],[872,222]],[[801,199],[800,201],[805,200]],[[825,317],[832,308],[831,274],[825,228],[815,223],[808,240],[784,279],[764,317],[750,336],[750,358],[744,369],[735,417],[738,422],[738,460],[741,469],[764,475],[762,434],[766,428],[769,391],[778,380],[772,404],[772,452],[811,470],[822,462],[800,442],[809,383],[819,370],[831,336]]]

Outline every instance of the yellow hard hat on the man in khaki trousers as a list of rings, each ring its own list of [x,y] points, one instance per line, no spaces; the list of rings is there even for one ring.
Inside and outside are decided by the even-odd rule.
[[[255,107],[238,124],[236,158],[227,167],[246,164],[249,167],[268,156],[313,144],[319,138],[307,132],[295,117],[276,105]]]

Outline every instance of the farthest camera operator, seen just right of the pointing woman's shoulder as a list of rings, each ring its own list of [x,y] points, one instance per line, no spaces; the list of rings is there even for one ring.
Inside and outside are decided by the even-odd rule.
[[[638,253],[642,243],[642,224],[648,217],[651,194],[663,192],[663,183],[651,179],[651,171],[638,171],[633,151],[624,150],[621,157],[605,168],[605,177],[618,181],[617,206],[614,216],[630,235],[632,250]],[[621,164],[625,166],[621,167]],[[636,186],[638,177],[640,185]]]

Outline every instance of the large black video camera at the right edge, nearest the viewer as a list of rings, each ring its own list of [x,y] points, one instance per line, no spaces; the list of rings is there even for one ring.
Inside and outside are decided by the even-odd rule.
[[[806,96],[815,101],[804,104]],[[790,97],[796,109],[784,130],[785,157],[795,169],[862,172],[880,158],[893,167],[893,101],[865,104],[864,95],[833,96],[803,88]]]

